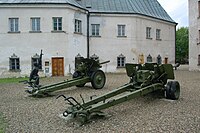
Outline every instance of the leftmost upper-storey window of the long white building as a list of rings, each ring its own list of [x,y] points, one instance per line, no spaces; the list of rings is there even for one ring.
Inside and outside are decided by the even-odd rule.
[[[9,18],[10,32],[19,32],[19,18]]]

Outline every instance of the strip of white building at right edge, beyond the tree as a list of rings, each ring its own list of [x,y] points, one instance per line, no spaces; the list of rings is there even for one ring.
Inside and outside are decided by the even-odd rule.
[[[189,70],[200,71],[200,1],[189,2]]]

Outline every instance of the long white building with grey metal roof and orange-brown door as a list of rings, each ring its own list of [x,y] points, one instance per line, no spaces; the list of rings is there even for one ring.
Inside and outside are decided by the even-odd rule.
[[[73,73],[78,54],[110,60],[106,72],[174,63],[176,24],[157,0],[2,0],[0,77],[28,76],[41,49],[53,76]]]

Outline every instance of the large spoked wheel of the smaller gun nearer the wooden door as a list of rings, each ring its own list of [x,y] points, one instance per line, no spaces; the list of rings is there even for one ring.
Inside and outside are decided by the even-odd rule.
[[[102,70],[92,73],[91,84],[94,89],[102,89],[106,83],[106,76]]]

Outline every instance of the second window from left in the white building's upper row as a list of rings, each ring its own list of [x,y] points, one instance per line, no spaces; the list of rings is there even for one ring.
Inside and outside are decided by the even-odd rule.
[[[30,32],[41,32],[41,21],[40,17],[32,17],[31,21],[31,31]]]

